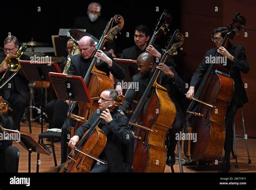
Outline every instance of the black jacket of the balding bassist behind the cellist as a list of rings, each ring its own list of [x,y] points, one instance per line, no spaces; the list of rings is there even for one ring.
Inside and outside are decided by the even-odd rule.
[[[109,76],[109,72],[113,74],[113,76],[117,79],[123,79],[125,77],[124,70],[121,66],[119,66],[116,62],[114,62],[111,53],[104,51],[107,57],[112,59],[112,67],[109,67],[106,63],[100,61],[96,63],[97,69],[100,71],[104,71],[107,76]],[[71,63],[68,70],[68,74],[85,77],[87,70],[90,67],[91,59],[84,59],[82,55],[76,55],[71,57]]]

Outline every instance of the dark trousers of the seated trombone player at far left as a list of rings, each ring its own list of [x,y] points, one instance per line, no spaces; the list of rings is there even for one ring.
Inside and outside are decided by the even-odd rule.
[[[14,120],[15,129],[21,129],[21,120],[25,112],[26,106],[29,105],[30,97],[24,97],[17,92],[12,92],[8,99],[12,107],[12,119]]]

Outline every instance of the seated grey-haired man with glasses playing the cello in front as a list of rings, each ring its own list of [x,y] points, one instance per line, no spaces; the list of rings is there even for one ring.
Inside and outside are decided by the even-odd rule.
[[[100,121],[98,127],[104,131],[107,141],[103,152],[99,155],[99,159],[107,161],[104,165],[97,161],[91,167],[92,173],[102,172],[126,172],[126,163],[123,155],[124,145],[129,144],[132,131],[129,130],[128,118],[116,110],[110,113],[107,106],[117,101],[118,93],[114,89],[107,89],[100,94],[98,100],[99,108],[93,112],[92,117],[80,126],[75,135],[70,139],[69,146],[75,147],[83,134],[92,127],[98,118]],[[64,164],[60,165],[61,168]]]

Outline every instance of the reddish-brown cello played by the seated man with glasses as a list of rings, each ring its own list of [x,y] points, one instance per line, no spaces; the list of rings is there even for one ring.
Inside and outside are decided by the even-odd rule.
[[[112,112],[124,101],[124,96],[117,96],[118,101],[107,107]],[[68,161],[60,169],[60,173],[82,173],[90,172],[93,162],[96,160],[102,164],[106,161],[98,159],[100,153],[104,150],[107,137],[105,133],[98,127],[102,121],[98,118],[95,123],[87,130],[75,148],[72,148],[68,155]]]

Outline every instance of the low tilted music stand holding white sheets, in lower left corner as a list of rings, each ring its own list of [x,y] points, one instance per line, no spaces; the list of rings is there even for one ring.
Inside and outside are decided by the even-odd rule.
[[[4,129],[4,131],[8,132],[8,133],[16,133],[21,135],[21,139],[19,139],[19,142],[16,139],[12,139],[15,140],[16,142],[18,142],[18,144],[20,144],[23,148],[25,148],[26,151],[28,151],[29,153],[29,173],[31,172],[31,153],[32,152],[36,152],[39,154],[46,154],[46,155],[51,155],[48,151],[46,151],[44,149],[43,146],[41,146],[37,141],[35,141],[30,135],[16,131],[16,130],[8,130],[8,129]]]

